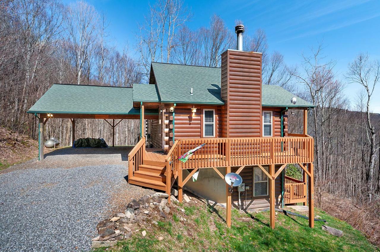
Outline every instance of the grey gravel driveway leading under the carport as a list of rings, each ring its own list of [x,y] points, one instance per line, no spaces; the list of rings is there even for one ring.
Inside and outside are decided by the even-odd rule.
[[[115,152],[123,153],[120,147],[60,149],[3,171],[0,250],[90,250],[100,220],[130,198],[152,193],[127,183],[127,162]],[[83,165],[86,159],[91,165]]]

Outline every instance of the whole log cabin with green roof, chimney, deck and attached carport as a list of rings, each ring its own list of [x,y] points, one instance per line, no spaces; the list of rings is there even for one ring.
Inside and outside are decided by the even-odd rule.
[[[262,54],[242,49],[244,26],[235,31],[237,48],[222,53],[220,68],[152,62],[149,84],[133,88],[52,85],[28,110],[39,118],[40,160],[43,128],[53,115],[70,118],[73,142],[78,118],[104,119],[113,130],[115,120],[139,119],[139,141],[128,154],[130,184],[168,194],[176,187],[180,202],[186,189],[225,206],[228,226],[231,206],[269,207],[274,228],[275,207],[308,203],[313,227],[314,143],[307,113],[315,106],[282,87],[263,85]],[[303,110],[302,134],[288,132],[288,109]],[[202,144],[187,162],[179,161]],[[289,164],[301,167],[302,180],[285,176]],[[230,172],[243,180],[232,193],[224,181]]]

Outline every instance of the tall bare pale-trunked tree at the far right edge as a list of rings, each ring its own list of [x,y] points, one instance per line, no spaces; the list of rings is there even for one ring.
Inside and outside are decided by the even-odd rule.
[[[380,61],[370,61],[368,53],[359,53],[355,60],[348,64],[347,79],[350,83],[358,83],[364,87],[367,94],[366,102],[366,135],[369,143],[369,159],[367,165],[366,180],[368,186],[368,200],[372,201],[375,191],[375,156],[376,131],[370,118],[370,99],[380,77]],[[380,147],[378,147],[380,148]]]

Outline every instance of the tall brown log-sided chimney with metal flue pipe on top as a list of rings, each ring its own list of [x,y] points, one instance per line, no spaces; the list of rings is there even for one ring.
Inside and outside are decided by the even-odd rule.
[[[242,51],[243,25],[235,27],[237,49],[222,54],[222,137],[261,137],[261,60]]]

